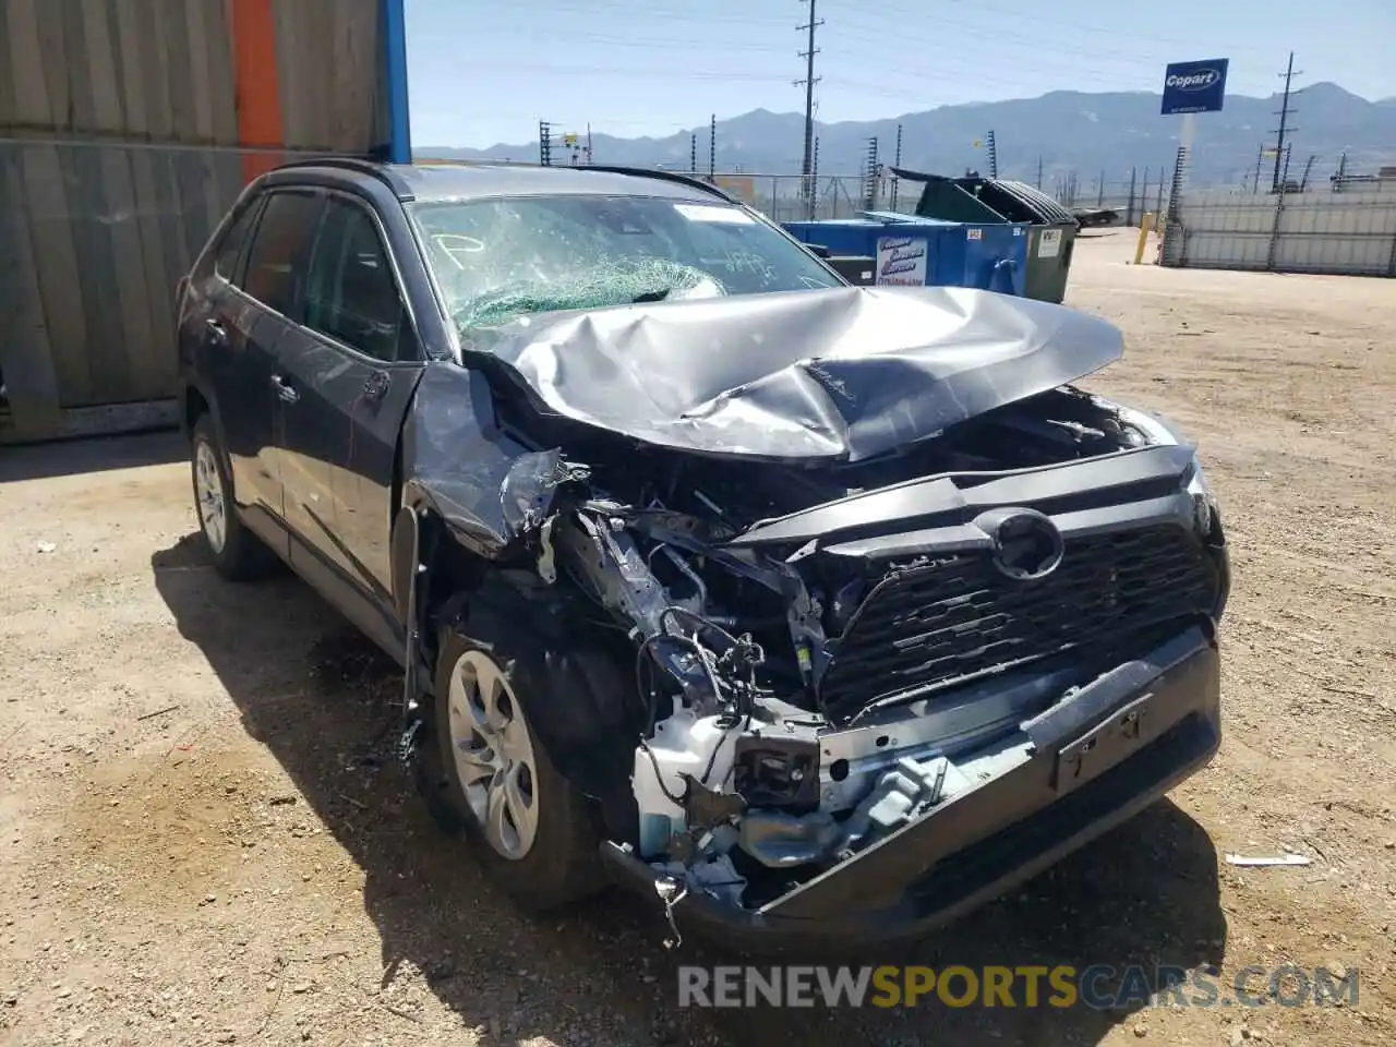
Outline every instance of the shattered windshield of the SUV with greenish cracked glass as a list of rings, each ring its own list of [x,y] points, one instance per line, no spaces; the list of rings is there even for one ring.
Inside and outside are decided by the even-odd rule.
[[[557,195],[410,207],[462,329],[525,313],[838,286],[730,204]]]

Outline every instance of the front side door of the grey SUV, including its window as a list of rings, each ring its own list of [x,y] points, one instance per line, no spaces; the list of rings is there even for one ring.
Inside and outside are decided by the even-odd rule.
[[[278,353],[286,406],[292,564],[383,646],[392,614],[389,533],[398,433],[422,373],[412,315],[377,214],[329,193],[306,276],[303,325]],[[345,588],[356,592],[339,592]]]

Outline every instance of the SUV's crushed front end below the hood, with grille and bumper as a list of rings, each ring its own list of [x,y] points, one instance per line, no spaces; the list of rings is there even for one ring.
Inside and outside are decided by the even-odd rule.
[[[1058,388],[857,466],[642,451],[591,483],[540,560],[634,646],[603,854],[676,928],[919,937],[1219,744],[1222,521],[1156,419]]]

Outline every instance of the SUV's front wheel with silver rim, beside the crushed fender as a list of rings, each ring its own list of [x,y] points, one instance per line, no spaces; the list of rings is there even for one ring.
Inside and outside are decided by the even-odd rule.
[[[528,716],[546,708],[540,688],[570,683],[570,652],[526,620],[472,614],[470,631],[441,634],[423,787],[437,821],[475,843],[504,893],[528,912],[556,909],[604,882],[596,811]]]

